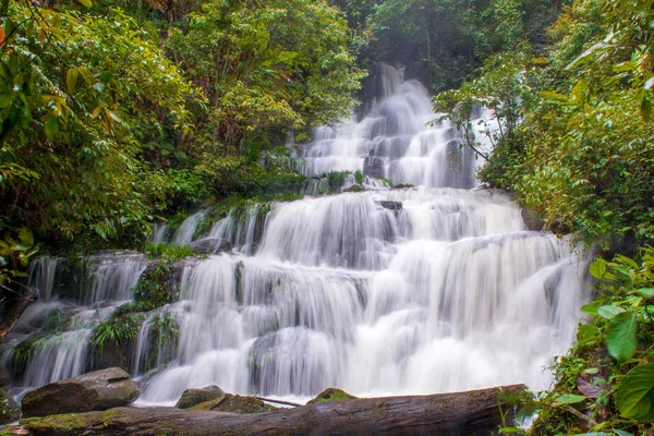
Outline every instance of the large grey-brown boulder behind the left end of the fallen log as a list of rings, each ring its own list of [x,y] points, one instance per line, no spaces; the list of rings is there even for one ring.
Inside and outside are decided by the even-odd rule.
[[[23,416],[101,411],[128,405],[138,393],[138,387],[123,370],[96,371],[27,392]]]

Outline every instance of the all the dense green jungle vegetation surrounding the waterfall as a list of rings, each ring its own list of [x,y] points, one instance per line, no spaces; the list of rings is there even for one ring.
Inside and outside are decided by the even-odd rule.
[[[138,247],[157,219],[296,182],[289,138],[401,62],[481,180],[607,258],[532,432],[652,432],[652,2],[2,0],[0,21],[7,302],[37,250]],[[479,105],[500,129],[473,125]]]

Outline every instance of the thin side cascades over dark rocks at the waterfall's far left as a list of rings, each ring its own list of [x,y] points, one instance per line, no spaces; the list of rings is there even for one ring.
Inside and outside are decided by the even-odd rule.
[[[93,328],[107,320],[116,307],[132,300],[133,289],[146,267],[144,256],[138,253],[101,253],[88,257],[82,301],[74,304],[72,295],[60,300],[56,274],[62,262],[41,257],[33,264],[29,286],[37,290],[38,301],[27,307],[4,343],[11,348],[29,335],[38,335],[25,356],[22,380],[25,387],[39,387],[86,372]],[[65,319],[57,319],[55,330],[46,326],[49,318],[60,317]],[[2,358],[7,364],[11,351],[5,350]]]

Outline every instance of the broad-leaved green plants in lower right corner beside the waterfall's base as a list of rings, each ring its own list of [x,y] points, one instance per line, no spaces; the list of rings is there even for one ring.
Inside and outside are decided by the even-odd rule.
[[[654,419],[654,364],[649,363],[654,358],[654,249],[643,249],[634,259],[598,258],[590,272],[597,279],[597,299],[582,308],[589,324],[580,326],[568,355],[557,360],[557,384],[542,395],[532,431],[645,434]],[[568,404],[588,420],[580,422]]]

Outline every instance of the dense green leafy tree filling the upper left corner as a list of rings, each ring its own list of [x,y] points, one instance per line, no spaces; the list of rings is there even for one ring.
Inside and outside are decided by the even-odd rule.
[[[4,213],[50,240],[146,232],[164,183],[143,144],[190,131],[194,89],[122,10],[26,3],[2,20]]]

